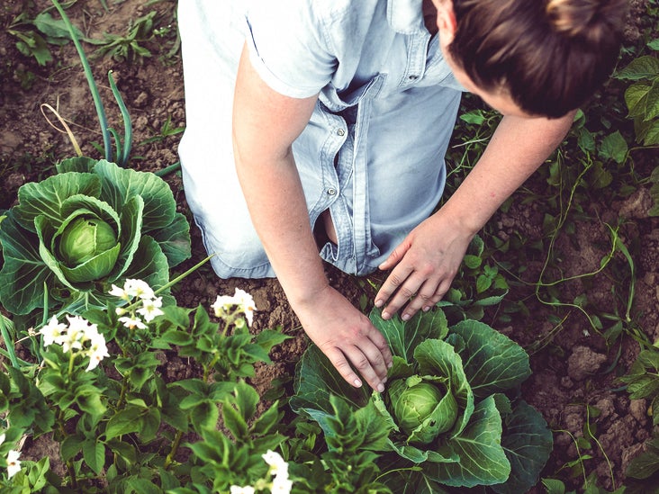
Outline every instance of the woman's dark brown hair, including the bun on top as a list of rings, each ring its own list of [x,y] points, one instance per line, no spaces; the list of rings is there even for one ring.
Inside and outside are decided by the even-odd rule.
[[[585,103],[618,59],[626,0],[453,0],[451,56],[485,90],[559,117]]]

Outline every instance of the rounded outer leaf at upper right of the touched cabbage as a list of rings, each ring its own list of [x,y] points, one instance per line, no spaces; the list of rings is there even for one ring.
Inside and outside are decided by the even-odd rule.
[[[531,374],[524,349],[483,322],[460,321],[449,331],[465,341],[459,354],[476,397],[510,390]]]

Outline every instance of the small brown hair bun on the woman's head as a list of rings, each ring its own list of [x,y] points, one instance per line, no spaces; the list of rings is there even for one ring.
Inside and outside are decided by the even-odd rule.
[[[626,0],[547,0],[546,15],[555,31],[597,41],[624,22]]]

